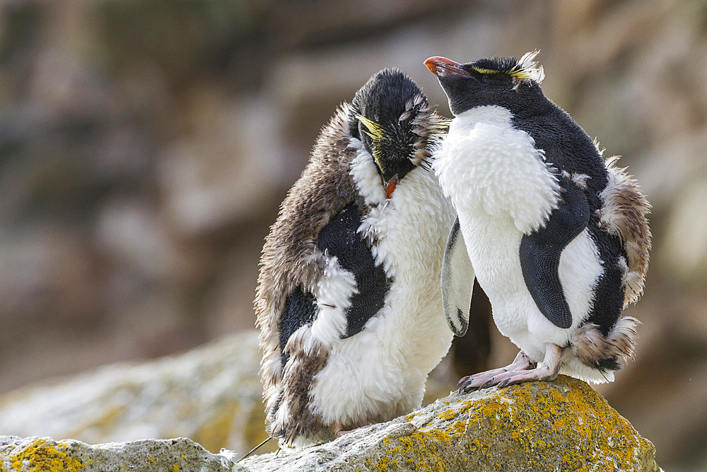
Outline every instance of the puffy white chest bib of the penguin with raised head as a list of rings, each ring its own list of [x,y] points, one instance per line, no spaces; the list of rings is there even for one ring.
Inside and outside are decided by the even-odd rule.
[[[480,107],[452,121],[433,164],[457,212],[509,217],[522,233],[557,207],[559,183],[532,137],[510,125],[510,112]]]

